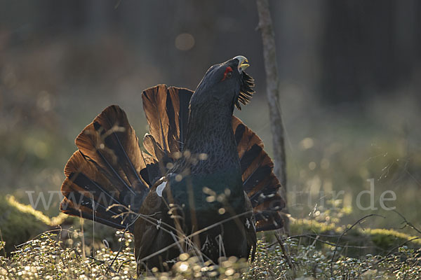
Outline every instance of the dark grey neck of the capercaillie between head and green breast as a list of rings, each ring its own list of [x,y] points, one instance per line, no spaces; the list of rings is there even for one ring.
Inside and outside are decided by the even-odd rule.
[[[206,154],[206,160],[199,157],[192,173],[239,171],[239,156],[232,131],[232,109],[217,103],[192,108],[183,150],[192,155]]]

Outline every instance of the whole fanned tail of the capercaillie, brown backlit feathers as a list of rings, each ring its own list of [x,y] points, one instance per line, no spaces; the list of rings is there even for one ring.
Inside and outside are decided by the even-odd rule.
[[[252,80],[248,81],[249,84]],[[244,87],[246,104],[252,94]],[[247,94],[250,92],[250,94]],[[114,228],[132,230],[149,188],[180,158],[193,92],[185,88],[157,85],[142,94],[149,134],[143,139],[146,153],[119,106],[102,111],[76,138],[76,151],[65,167],[60,209]],[[232,117],[237,150],[243,172],[243,188],[255,212],[256,230],[282,228],[279,211],[285,202],[281,184],[273,173],[273,162],[263,150],[262,140],[241,120]],[[121,205],[111,207],[113,204]]]

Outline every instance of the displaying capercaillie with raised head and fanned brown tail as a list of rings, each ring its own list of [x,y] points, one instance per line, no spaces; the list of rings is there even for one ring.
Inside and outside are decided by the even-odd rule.
[[[138,272],[168,269],[188,250],[253,260],[256,232],[282,228],[285,203],[261,139],[233,116],[254,93],[247,67],[237,56],[194,92],[145,90],[145,151],[126,113],[107,107],[76,138],[61,211],[132,232]]]

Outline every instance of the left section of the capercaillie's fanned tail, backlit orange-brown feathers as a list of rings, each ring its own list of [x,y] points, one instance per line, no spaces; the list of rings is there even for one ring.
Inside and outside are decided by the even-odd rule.
[[[119,106],[109,106],[76,138],[65,167],[60,210],[114,228],[132,227],[149,192],[147,163],[138,137]],[[117,204],[120,206],[111,207]],[[111,208],[109,208],[111,207]]]

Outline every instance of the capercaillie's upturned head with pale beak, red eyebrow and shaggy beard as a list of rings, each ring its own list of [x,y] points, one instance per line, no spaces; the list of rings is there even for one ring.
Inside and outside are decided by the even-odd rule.
[[[241,110],[240,104],[246,105],[254,93],[254,79],[244,71],[248,66],[248,60],[241,55],[211,66],[194,91],[191,109],[218,104]]]

